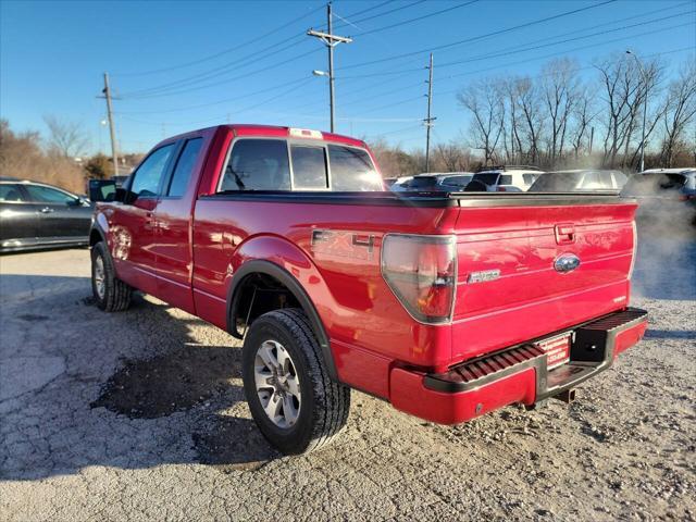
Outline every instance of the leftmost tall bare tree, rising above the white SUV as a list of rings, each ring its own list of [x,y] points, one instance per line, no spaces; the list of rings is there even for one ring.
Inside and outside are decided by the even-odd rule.
[[[477,80],[462,89],[457,99],[473,116],[472,147],[484,151],[486,163],[495,161],[505,121],[500,82],[493,78]]]

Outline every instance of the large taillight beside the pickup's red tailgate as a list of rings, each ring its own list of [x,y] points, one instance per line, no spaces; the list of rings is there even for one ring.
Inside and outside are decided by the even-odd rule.
[[[449,322],[457,290],[457,239],[387,234],[382,244],[382,275],[413,319]]]

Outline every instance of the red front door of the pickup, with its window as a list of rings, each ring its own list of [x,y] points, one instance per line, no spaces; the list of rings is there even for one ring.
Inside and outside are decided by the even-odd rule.
[[[156,274],[154,214],[177,142],[153,150],[129,179],[125,200],[113,206],[111,253],[119,277],[159,297]]]

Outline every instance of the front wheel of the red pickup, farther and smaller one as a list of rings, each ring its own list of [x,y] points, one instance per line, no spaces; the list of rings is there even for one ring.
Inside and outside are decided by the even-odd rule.
[[[103,241],[91,247],[91,293],[97,307],[105,312],[121,312],[130,306],[133,288],[116,277]]]

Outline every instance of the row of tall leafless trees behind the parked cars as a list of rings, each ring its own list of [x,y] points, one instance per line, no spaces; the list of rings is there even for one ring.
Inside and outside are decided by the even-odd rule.
[[[525,164],[545,170],[639,165],[645,112],[646,167],[696,164],[696,62],[666,80],[660,59],[616,53],[597,60],[589,79],[577,62],[551,60],[540,74],[487,76],[457,95],[470,126],[432,151],[432,172]],[[646,104],[647,99],[647,104]],[[371,144],[387,175],[423,172],[422,149]]]

